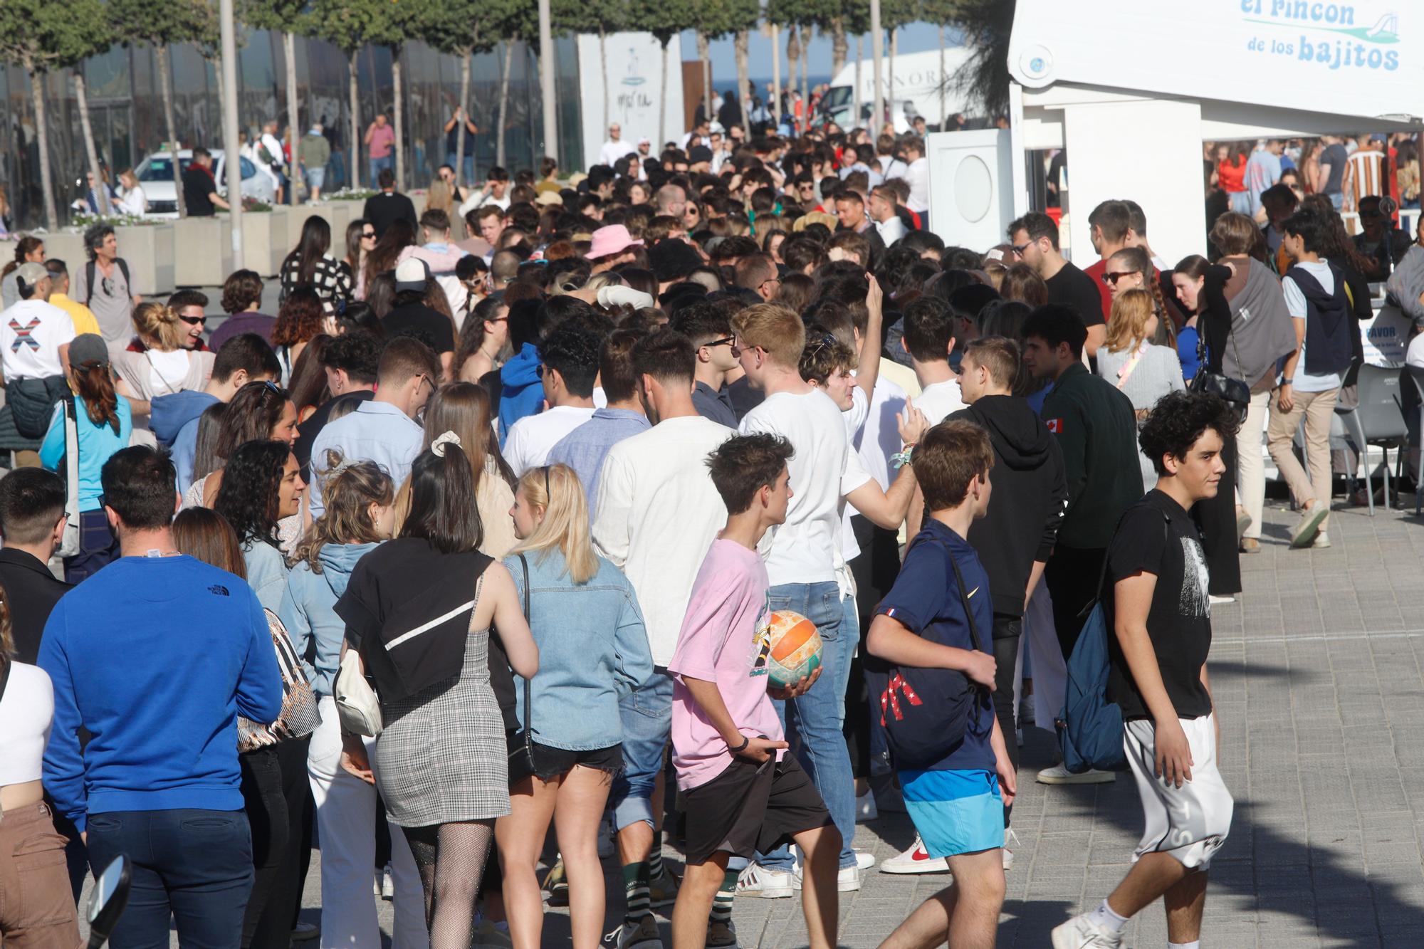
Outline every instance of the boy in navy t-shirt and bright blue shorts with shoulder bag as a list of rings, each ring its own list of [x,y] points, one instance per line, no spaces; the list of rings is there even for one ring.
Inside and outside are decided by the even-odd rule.
[[[983,651],[994,621],[988,574],[965,536],[988,510],[994,449],[988,433],[973,422],[941,422],[920,440],[910,463],[930,519],[910,543],[894,587],[876,607],[867,648],[900,670],[960,671],[971,688],[963,740],[946,747],[943,757],[936,748],[937,761],[917,762],[913,769],[897,762],[914,828],[930,856],[948,859],[954,882],[924,901],[881,949],[934,946],[946,939],[951,946],[991,946],[1004,903],[1004,805],[1012,804],[1017,785],[990,700],[994,655]],[[890,690],[896,688],[891,681]],[[924,708],[911,708],[909,694],[887,693],[901,728],[933,731],[947,718],[937,702],[950,700],[918,698]],[[871,695],[871,705],[877,700]],[[897,705],[904,707],[903,715]],[[890,738],[893,751],[894,728]]]

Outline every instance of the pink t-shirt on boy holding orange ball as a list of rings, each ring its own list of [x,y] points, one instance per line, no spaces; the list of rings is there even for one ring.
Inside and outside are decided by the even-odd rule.
[[[769,587],[766,566],[755,550],[733,540],[712,541],[668,663],[674,675],[672,762],[684,791],[706,784],[732,764],[726,741],[692,700],[684,675],[716,683],[743,735],[782,738],[782,722],[766,694]],[[776,754],[778,761],[783,754]]]

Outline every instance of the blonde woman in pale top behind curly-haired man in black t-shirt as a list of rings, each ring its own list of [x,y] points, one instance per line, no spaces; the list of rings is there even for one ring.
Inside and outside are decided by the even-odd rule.
[[[1121,291],[1112,299],[1108,336],[1098,348],[1098,375],[1132,400],[1139,423],[1158,399],[1168,392],[1186,389],[1176,349],[1152,342],[1158,322],[1152,294],[1139,288]],[[1152,490],[1156,484],[1152,459],[1142,449],[1138,449],[1138,459],[1142,466],[1142,490]]]

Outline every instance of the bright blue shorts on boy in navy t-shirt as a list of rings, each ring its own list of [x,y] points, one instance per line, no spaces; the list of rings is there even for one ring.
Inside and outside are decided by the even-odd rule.
[[[900,789],[930,856],[1004,846],[1004,799],[993,771],[901,771]]]

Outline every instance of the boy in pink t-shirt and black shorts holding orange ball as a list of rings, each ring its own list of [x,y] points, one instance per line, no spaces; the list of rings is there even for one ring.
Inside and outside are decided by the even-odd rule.
[[[785,690],[768,690],[769,581],[756,544],[786,520],[790,456],[790,443],[775,435],[736,436],[708,456],[712,483],[726,503],[726,527],[698,571],[668,663],[672,759],[688,818],[686,876],[672,909],[674,949],[705,945],[728,858],[750,858],[785,841],[806,856],[802,908],[810,946],[836,945],[840,834],[810,778],[786,754],[772,705],[772,691],[776,698],[799,695],[822,670]]]

